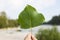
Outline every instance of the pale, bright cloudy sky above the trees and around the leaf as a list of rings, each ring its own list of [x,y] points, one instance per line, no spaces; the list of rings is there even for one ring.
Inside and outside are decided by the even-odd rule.
[[[17,19],[20,12],[29,4],[49,21],[60,14],[60,0],[0,0],[0,12],[5,11],[10,19]]]

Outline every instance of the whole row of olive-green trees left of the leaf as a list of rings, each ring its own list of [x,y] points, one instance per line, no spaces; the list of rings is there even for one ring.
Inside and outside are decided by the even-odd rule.
[[[17,19],[8,19],[6,12],[0,12],[0,28],[17,27]]]

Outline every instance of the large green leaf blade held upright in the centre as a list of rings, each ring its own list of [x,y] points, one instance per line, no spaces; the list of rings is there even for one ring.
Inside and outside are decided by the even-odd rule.
[[[34,7],[27,5],[20,13],[18,22],[23,29],[36,27],[44,22],[44,16],[38,13]]]

